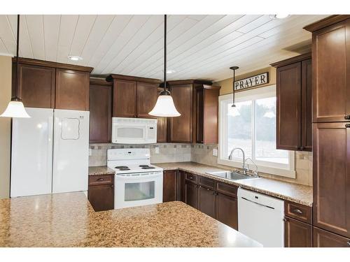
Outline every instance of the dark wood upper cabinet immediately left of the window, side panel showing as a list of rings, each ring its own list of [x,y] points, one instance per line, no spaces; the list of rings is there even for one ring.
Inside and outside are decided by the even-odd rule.
[[[195,85],[194,132],[196,143],[218,143],[218,96],[221,87]]]

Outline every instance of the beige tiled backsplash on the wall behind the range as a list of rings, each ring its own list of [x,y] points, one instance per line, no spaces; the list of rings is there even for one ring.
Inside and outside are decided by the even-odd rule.
[[[159,148],[159,154],[155,148]],[[118,144],[90,144],[91,155],[89,166],[106,166],[107,149],[111,148],[149,148],[151,163],[191,161],[191,145],[159,143],[152,145],[118,145]]]

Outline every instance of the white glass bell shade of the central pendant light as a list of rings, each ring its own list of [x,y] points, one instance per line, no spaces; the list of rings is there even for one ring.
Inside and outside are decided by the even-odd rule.
[[[157,103],[148,114],[155,117],[179,117],[181,114],[176,110],[172,96],[169,94],[158,96]]]

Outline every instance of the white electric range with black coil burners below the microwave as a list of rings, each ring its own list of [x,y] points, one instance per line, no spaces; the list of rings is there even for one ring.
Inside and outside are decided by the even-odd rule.
[[[114,209],[163,201],[163,169],[151,165],[148,148],[107,150],[107,166],[114,176]]]

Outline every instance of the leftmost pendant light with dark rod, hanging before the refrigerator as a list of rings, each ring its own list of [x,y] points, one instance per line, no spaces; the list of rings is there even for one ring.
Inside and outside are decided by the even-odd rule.
[[[17,95],[18,89],[18,50],[20,47],[20,15],[17,15],[17,56],[15,66],[15,96],[11,98],[8,103],[5,112],[0,117],[30,117],[26,110],[25,105],[22,103],[22,99]]]

